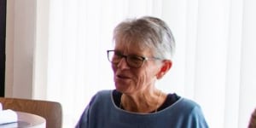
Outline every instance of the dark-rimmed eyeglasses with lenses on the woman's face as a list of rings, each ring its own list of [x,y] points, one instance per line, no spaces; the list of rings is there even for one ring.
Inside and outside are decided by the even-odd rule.
[[[143,66],[144,61],[148,60],[160,60],[160,58],[155,57],[144,57],[140,55],[123,55],[121,52],[116,50],[107,50],[108,53],[108,61],[112,62],[113,64],[118,64],[119,61],[125,57],[125,61],[129,67],[139,68]]]

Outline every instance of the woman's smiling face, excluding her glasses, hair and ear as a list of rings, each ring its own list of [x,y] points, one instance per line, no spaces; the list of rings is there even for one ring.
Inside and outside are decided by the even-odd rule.
[[[149,49],[141,50],[131,45],[116,44],[114,50],[119,51],[122,55],[153,57]],[[118,64],[112,64],[116,89],[126,94],[132,94],[151,88],[154,86],[156,74],[160,71],[159,64],[149,60],[144,61],[142,67],[133,68],[127,65],[125,57],[123,57]]]

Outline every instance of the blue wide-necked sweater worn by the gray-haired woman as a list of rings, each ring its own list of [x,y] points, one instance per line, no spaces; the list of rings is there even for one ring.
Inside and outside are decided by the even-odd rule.
[[[208,128],[208,125],[200,106],[185,98],[157,113],[132,113],[114,104],[112,90],[102,90],[91,99],[76,128]]]

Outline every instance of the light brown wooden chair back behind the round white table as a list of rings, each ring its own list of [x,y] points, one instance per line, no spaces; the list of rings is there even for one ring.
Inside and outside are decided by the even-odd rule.
[[[61,128],[62,108],[59,102],[0,97],[3,109],[34,113],[46,119],[46,128]]]

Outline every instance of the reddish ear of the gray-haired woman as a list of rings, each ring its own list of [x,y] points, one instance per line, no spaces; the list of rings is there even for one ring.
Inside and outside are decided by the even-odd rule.
[[[162,61],[162,66],[160,67],[159,73],[157,73],[156,78],[161,79],[172,67],[171,60],[164,60]]]

